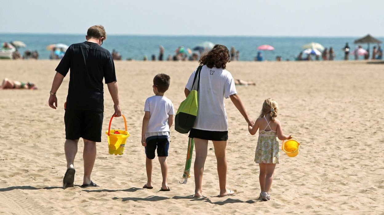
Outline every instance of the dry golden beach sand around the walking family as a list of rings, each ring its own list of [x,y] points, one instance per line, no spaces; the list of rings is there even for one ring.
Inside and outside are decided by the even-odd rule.
[[[177,108],[196,62],[116,62],[121,108],[127,118],[125,153],[108,154],[103,133],[92,180],[99,187],[81,188],[83,142],[75,159],[75,187],[62,188],[66,170],[64,108],[66,77],[58,91],[58,110],[48,97],[58,61],[0,61],[0,78],[30,81],[38,90],[0,91],[0,213],[10,214],[262,214],[384,213],[384,72],[382,64],[366,62],[230,62],[233,77],[257,82],[237,86],[253,118],[265,98],[280,106],[278,118],[286,134],[301,142],[291,158],[281,152],[271,188],[271,200],[260,202],[258,165],[253,162],[257,135],[225,100],[229,123],[227,187],[237,195],[219,198],[214,150],[209,150],[203,178],[206,198],[193,199],[194,178],[179,184],[184,170],[187,136],[171,128],[170,192],[161,187],[155,160],[154,189],[146,183],[144,147],[140,144],[144,101],[152,93],[152,78],[167,73],[166,96]],[[113,103],[105,86],[103,130],[108,129]],[[113,128],[123,128],[115,118]],[[280,142],[281,144],[281,142]],[[209,148],[213,148],[212,142]],[[156,158],[155,158],[156,159]]]

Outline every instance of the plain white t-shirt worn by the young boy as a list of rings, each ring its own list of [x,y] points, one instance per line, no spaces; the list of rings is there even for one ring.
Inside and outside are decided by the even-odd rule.
[[[148,132],[169,132],[168,117],[175,115],[172,102],[165,96],[147,98],[144,111],[149,111]]]

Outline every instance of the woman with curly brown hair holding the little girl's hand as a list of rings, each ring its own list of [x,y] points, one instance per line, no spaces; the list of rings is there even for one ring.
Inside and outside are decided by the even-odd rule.
[[[202,65],[198,91],[198,110],[195,125],[192,127],[189,137],[195,140],[196,159],[194,164],[195,173],[195,195],[202,197],[202,180],[204,163],[207,158],[208,140],[212,140],[215,148],[217,160],[217,173],[220,185],[220,197],[235,195],[233,190],[226,187],[227,181],[227,161],[225,158],[225,148],[228,139],[227,113],[224,107],[224,98],[231,98],[232,103],[245,118],[248,125],[253,125],[253,121],[248,117],[245,108],[237,95],[235,82],[230,72],[225,70],[225,66],[230,62],[228,48],[224,45],[215,45],[212,50],[203,55],[199,63]],[[185,86],[185,96],[191,90],[196,90],[197,84],[192,88],[196,70],[189,77]],[[200,80],[199,80],[200,79]]]

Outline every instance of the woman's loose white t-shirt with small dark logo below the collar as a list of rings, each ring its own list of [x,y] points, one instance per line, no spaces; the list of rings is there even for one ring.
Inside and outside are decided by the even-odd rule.
[[[185,86],[189,91],[197,89],[199,76],[196,78],[192,89],[195,73],[196,70],[189,77]],[[193,128],[208,131],[227,131],[228,122],[224,98],[237,94],[231,73],[222,68],[208,68],[207,65],[204,65],[200,72],[200,79],[200,87],[197,93],[197,117]]]

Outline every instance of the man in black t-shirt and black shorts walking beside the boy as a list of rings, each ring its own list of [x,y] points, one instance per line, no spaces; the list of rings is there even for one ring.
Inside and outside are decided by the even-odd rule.
[[[96,142],[101,142],[104,97],[103,78],[108,85],[114,103],[114,116],[121,116],[118,85],[111,53],[101,47],[106,39],[102,25],[88,28],[86,42],[72,44],[56,68],[48,104],[57,108],[56,92],[64,77],[70,72],[68,95],[64,104],[65,115],[65,158],[67,171],[63,178],[65,185],[74,182],[74,158],[79,138],[84,140],[84,178],[81,187],[96,186],[91,173],[96,159]]]

